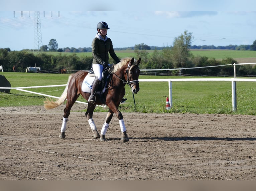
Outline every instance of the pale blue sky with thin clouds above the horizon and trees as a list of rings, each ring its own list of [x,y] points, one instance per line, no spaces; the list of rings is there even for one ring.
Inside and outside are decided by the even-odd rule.
[[[47,4],[47,1],[43,2]],[[185,30],[194,37],[192,45],[243,45],[252,44],[256,40],[256,11],[248,10],[250,7],[255,8],[256,3],[253,1],[248,1],[246,6],[231,5],[231,1],[218,0],[215,3],[197,0],[193,5],[192,1],[181,0],[179,3],[183,4],[180,5],[174,3],[175,1],[159,0],[155,6],[150,5],[150,1],[136,3],[132,0],[129,4],[124,4],[126,1],[110,3],[100,0],[97,1],[97,6],[80,0],[75,2],[75,5],[62,1],[61,5],[51,3],[50,6],[44,6],[42,2],[31,5],[26,0],[1,1],[0,48],[22,50],[36,47],[35,15],[34,11],[30,11],[29,17],[28,10],[41,10],[42,44],[48,45],[50,39],[55,39],[58,48],[91,47],[92,39],[96,35],[96,25],[100,21],[108,23],[110,29],[107,36],[111,38],[114,48],[131,47],[140,43],[148,46],[171,46],[174,38]],[[195,2],[199,6],[195,6]],[[202,2],[204,6],[201,6]],[[181,11],[151,10],[167,7]],[[206,8],[208,11],[204,10]]]

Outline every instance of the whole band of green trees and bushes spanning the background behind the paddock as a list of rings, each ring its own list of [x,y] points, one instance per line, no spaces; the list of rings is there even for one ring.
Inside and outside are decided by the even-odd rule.
[[[201,56],[193,56],[191,54],[191,42],[193,41],[192,33],[184,31],[183,34],[174,38],[171,47],[164,47],[159,51],[156,47],[153,54],[149,56],[147,50],[151,47],[148,45],[137,44],[134,48],[134,53],[137,58],[141,57],[140,64],[141,69],[182,69],[182,68],[194,68],[204,66],[219,66],[238,63],[232,58],[227,58],[222,61],[214,58],[207,58]],[[57,48],[56,40],[51,41],[54,46],[51,48]],[[256,40],[253,45],[256,48]],[[251,48],[253,48],[251,45]],[[256,50],[256,49],[255,49]],[[29,51],[10,51],[9,48],[0,49],[0,65],[4,67],[5,72],[11,72],[12,67],[16,66],[17,72],[25,72],[26,67],[36,66],[41,67],[41,70],[90,70],[93,58],[90,56],[78,57],[76,53],[72,55],[50,55],[44,52],[38,52],[33,54]],[[110,57],[109,63],[114,63]],[[164,71],[162,73],[177,74],[180,71],[171,70]],[[226,67],[214,67],[204,69],[182,70],[182,74],[188,75],[206,75],[206,76],[233,76],[233,66]],[[256,75],[256,68],[251,65],[239,65],[237,66],[237,76]]]

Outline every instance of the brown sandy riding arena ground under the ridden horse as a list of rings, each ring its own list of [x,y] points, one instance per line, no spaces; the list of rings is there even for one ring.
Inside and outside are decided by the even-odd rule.
[[[255,116],[123,113],[130,140],[114,116],[102,142],[83,104],[58,138],[64,106],[0,107],[0,180],[256,180]]]

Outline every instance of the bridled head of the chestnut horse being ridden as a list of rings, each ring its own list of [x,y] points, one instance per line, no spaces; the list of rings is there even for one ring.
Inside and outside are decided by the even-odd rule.
[[[140,90],[139,88],[139,75],[140,69],[138,67],[140,63],[140,58],[138,60],[134,60],[132,58],[130,61],[127,62],[127,69],[125,71],[125,80],[126,83],[131,87],[132,92],[137,94]]]

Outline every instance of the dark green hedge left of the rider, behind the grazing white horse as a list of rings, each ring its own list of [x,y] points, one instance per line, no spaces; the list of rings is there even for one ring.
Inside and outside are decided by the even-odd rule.
[[[16,72],[25,72],[27,67],[40,67],[41,70],[90,70],[92,57],[72,55],[50,55],[43,52],[34,54],[28,51],[8,51],[0,49],[0,65],[4,72],[12,72],[13,66]]]

